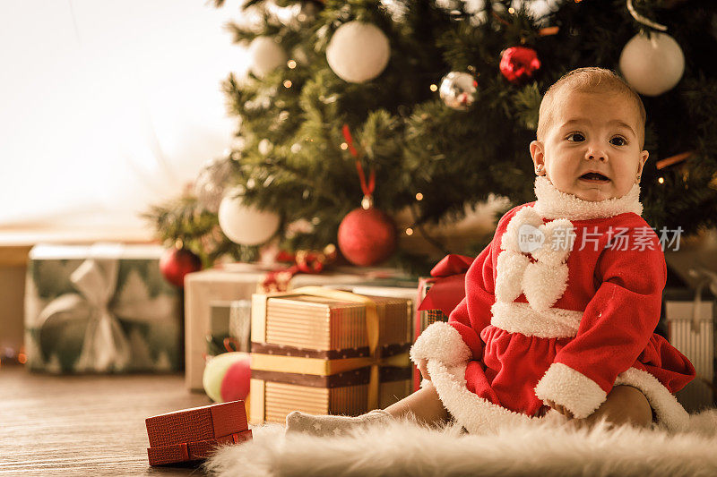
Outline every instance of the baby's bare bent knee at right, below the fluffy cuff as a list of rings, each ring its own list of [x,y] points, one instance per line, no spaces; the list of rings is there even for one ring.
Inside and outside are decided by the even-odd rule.
[[[600,419],[618,426],[631,424],[636,427],[650,427],[652,407],[639,389],[631,386],[616,386],[612,388],[608,398],[597,411],[585,419],[574,419],[571,422],[578,426],[592,426]]]

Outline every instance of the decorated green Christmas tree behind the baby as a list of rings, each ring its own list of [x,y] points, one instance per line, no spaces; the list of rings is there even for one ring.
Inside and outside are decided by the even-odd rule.
[[[379,210],[407,221],[401,236],[491,195],[534,200],[528,144],[542,93],[582,66],[622,72],[643,96],[648,223],[687,234],[717,223],[712,1],[276,0],[242,9],[230,28],[250,46],[251,73],[224,83],[238,145],[194,191],[150,213],[163,240],[205,263],[255,259],[277,238],[285,251],[336,244],[372,183],[376,214],[344,224],[345,247],[383,226]],[[462,252],[477,253],[479,239]],[[374,240],[378,255],[391,251],[390,234]],[[425,272],[450,251],[427,240],[433,256],[399,239],[393,263]]]

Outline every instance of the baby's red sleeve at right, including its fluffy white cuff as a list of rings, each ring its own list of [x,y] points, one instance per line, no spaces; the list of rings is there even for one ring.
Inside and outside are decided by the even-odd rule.
[[[631,229],[629,234],[633,234]],[[632,237],[628,243],[634,243]],[[657,236],[643,251],[606,248],[595,268],[600,286],[574,339],[560,349],[535,387],[544,402],[583,418],[607,398],[618,374],[643,353],[660,320],[667,268]]]

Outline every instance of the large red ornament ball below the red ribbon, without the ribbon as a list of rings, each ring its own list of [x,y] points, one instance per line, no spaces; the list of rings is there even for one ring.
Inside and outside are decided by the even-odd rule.
[[[396,227],[381,210],[354,209],[341,220],[338,241],[346,260],[368,267],[391,256],[396,248]]]

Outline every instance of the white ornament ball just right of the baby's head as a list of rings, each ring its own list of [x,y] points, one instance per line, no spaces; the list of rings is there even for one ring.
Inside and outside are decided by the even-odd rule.
[[[685,55],[675,38],[638,33],[620,55],[620,71],[630,86],[645,96],[660,96],[678,84],[685,72]]]

